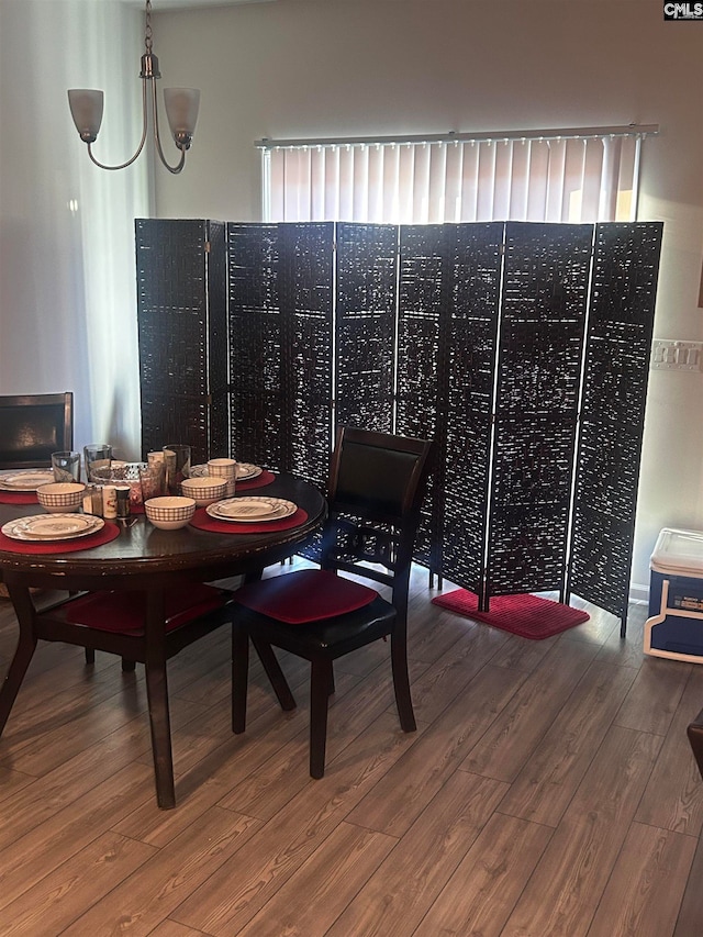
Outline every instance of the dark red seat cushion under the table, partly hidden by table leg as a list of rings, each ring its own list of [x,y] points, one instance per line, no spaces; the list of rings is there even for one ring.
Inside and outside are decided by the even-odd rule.
[[[191,582],[171,589],[164,600],[166,631],[178,628],[223,604],[224,596],[212,585]],[[70,603],[66,618],[76,625],[87,625],[102,632],[143,634],[146,595],[144,592],[90,592]]]

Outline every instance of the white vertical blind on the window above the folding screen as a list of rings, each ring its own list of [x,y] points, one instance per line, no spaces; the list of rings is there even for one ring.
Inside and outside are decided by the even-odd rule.
[[[264,220],[634,221],[643,130],[550,133],[431,142],[259,141]]]

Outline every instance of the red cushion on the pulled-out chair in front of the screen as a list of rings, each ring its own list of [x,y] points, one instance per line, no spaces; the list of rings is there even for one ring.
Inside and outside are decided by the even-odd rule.
[[[378,595],[375,589],[335,576],[325,569],[302,569],[250,582],[237,589],[235,600],[261,615],[301,625],[355,612]]]

